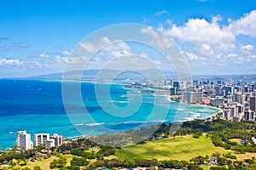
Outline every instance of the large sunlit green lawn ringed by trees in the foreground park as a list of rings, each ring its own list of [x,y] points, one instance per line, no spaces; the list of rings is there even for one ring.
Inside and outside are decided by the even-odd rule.
[[[206,134],[199,139],[192,138],[192,135],[176,137],[173,139],[162,139],[145,144],[136,144],[123,147],[116,151],[119,159],[131,158],[156,158],[161,160],[184,160],[189,161],[195,156],[212,156],[212,153],[228,153],[231,150],[224,150],[221,147],[215,147],[211,139]]]

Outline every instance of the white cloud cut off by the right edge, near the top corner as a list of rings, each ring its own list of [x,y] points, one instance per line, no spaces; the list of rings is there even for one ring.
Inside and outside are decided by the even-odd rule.
[[[228,28],[235,35],[256,37],[256,10],[244,14],[239,20],[230,20]]]

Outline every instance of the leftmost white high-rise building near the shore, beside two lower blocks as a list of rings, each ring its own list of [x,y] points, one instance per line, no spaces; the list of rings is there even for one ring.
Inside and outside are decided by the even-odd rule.
[[[32,149],[31,135],[26,133],[26,131],[17,132],[17,147],[20,148],[20,150]]]

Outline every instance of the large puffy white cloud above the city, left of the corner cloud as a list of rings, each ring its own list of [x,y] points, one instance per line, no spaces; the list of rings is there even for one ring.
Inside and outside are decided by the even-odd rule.
[[[195,45],[194,54],[204,56],[229,54],[236,48],[236,37],[226,26],[219,26],[220,20],[222,20],[220,15],[213,16],[211,22],[205,19],[190,19],[183,26],[172,24],[166,29],[160,26],[159,30],[181,42]]]

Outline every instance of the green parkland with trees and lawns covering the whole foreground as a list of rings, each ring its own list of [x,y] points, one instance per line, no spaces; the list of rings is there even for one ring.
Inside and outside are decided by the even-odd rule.
[[[0,154],[0,164],[13,169],[95,169],[96,167],[148,167],[185,169],[256,169],[256,136],[254,123],[216,120],[184,122],[176,133],[171,124],[162,124],[148,139],[143,135],[155,127],[98,139],[122,144],[113,147],[96,144],[90,139],[77,139],[59,148],[45,150],[44,145],[32,150],[12,150]],[[141,134],[141,135],[140,135]],[[132,141],[131,137],[137,136]],[[152,159],[154,157],[154,159]],[[0,169],[1,169],[0,165]],[[5,168],[5,167],[3,167]]]

